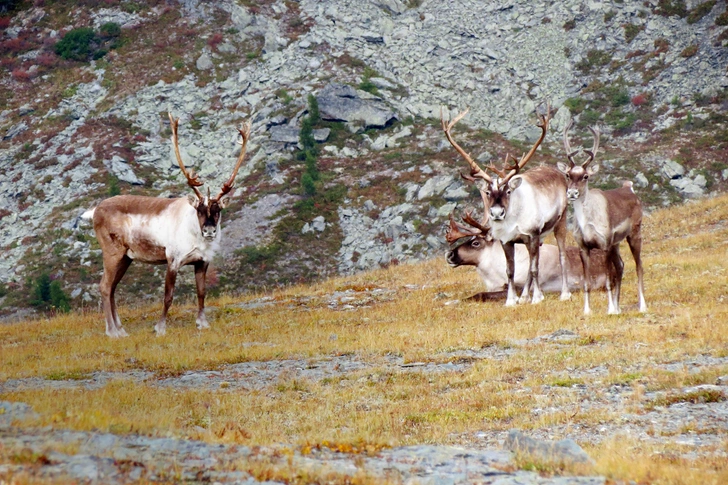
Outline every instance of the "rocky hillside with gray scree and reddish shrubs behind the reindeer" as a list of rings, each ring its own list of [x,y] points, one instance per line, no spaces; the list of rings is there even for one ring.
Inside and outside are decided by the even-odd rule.
[[[440,254],[447,215],[478,201],[442,136],[441,106],[470,108],[456,137],[481,162],[527,149],[534,112],[550,102],[537,162],[563,156],[573,117],[572,144],[590,143],[588,125],[605,133],[603,187],[629,178],[648,207],[728,187],[724,2],[6,0],[0,9],[5,315],[65,301],[43,296],[43,275],[71,306],[97,304],[101,257],[80,224],[85,209],[117,193],[189,192],[167,112],[181,117],[183,157],[212,191],[237,155],[236,126],[253,123],[208,274],[217,292]],[[132,266],[121,294],[159,298],[162,270]],[[192,287],[184,276],[178,294]]]

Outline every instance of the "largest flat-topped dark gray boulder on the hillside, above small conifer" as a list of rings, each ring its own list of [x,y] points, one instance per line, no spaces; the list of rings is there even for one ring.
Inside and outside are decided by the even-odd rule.
[[[396,116],[380,98],[345,84],[332,83],[316,97],[321,118],[327,121],[361,123],[364,128],[384,128]]]

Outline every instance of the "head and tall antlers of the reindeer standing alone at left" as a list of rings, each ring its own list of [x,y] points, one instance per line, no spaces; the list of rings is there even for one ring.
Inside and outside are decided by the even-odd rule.
[[[248,139],[250,138],[250,123],[243,123],[238,129],[240,133],[240,155],[235,163],[232,175],[225,182],[220,190],[220,193],[215,197],[210,197],[210,189],[207,189],[207,197],[204,197],[198,187],[203,185],[200,181],[199,176],[195,173],[194,169],[187,170],[185,164],[182,161],[182,156],[179,151],[179,143],[177,138],[177,128],[179,125],[179,118],[175,119],[172,114],[169,113],[169,122],[172,129],[172,144],[174,146],[174,153],[177,157],[177,163],[179,164],[182,174],[187,179],[187,185],[194,191],[194,194],[188,196],[190,205],[197,211],[197,219],[200,223],[200,231],[202,231],[205,239],[214,239],[217,236],[218,228],[220,227],[220,214],[222,210],[228,206],[230,196],[232,195],[235,183],[235,176],[238,174],[240,165],[243,163],[245,158],[245,149],[247,148]]]

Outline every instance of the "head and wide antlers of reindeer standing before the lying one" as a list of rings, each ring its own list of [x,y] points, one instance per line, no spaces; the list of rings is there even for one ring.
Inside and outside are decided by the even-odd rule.
[[[546,105],[546,114],[540,115],[540,122],[538,127],[541,128],[541,136],[536,143],[531,147],[528,153],[524,154],[520,160],[517,160],[510,153],[506,155],[503,161],[503,168],[498,169],[490,163],[486,170],[490,170],[495,174],[495,177],[491,177],[488,173],[480,168],[477,163],[470,157],[470,155],[458,145],[452,137],[451,129],[455,126],[455,123],[460,121],[468,110],[458,114],[449,123],[445,122],[445,117],[442,109],[440,110],[440,121],[442,123],[442,130],[445,133],[445,137],[450,144],[457,150],[457,152],[468,162],[470,165],[470,174],[461,174],[462,177],[471,182],[477,182],[478,179],[483,181],[483,186],[478,187],[480,190],[481,197],[485,203],[486,210],[489,212],[490,218],[493,221],[502,221],[508,214],[508,205],[510,203],[511,193],[521,185],[521,178],[517,176],[518,172],[528,163],[528,161],[536,153],[541,142],[546,137],[546,131],[548,130],[549,120],[551,119],[551,107]]]

